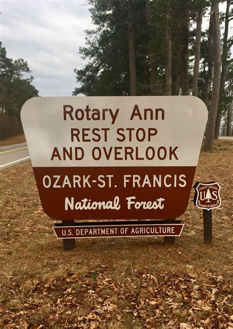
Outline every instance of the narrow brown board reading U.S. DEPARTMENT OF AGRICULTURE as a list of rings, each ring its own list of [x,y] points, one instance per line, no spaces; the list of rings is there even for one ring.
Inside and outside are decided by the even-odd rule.
[[[55,226],[58,239],[180,236],[184,224]]]

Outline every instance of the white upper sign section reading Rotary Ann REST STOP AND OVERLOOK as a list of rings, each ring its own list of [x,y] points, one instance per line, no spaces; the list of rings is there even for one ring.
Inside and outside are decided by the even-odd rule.
[[[21,119],[34,167],[196,166],[207,109],[193,96],[35,97]]]

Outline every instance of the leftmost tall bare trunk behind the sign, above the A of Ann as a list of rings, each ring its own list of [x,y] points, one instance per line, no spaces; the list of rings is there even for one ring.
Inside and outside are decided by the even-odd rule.
[[[134,0],[128,0],[128,43],[129,43],[129,73],[130,95],[136,96],[136,61],[134,50]]]

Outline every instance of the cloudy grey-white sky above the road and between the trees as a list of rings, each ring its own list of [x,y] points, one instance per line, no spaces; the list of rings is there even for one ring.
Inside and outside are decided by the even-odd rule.
[[[0,0],[0,4],[0,39],[7,56],[28,61],[40,96],[71,96],[78,85],[74,68],[85,65],[79,55],[84,30],[94,27],[87,1]],[[225,10],[225,4],[220,6]],[[203,28],[207,26],[205,19]]]

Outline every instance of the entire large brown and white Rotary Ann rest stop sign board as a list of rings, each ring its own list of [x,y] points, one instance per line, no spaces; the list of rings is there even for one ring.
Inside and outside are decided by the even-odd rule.
[[[21,119],[51,218],[174,219],[186,210],[207,120],[197,97],[35,97]]]

